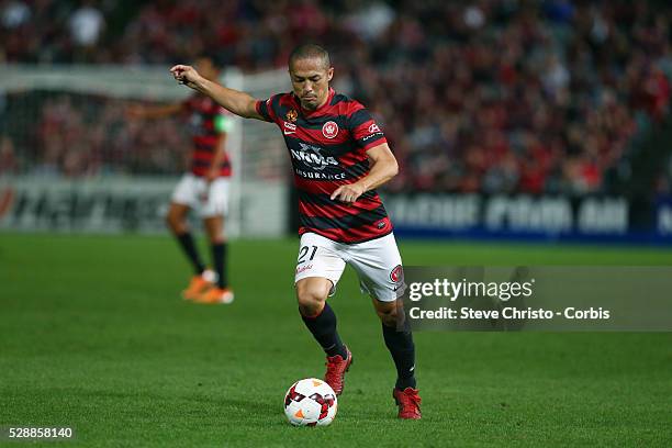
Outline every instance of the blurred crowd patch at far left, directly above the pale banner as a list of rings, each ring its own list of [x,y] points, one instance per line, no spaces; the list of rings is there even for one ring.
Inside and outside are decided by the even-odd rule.
[[[22,132],[15,133],[19,144],[0,137],[0,173],[175,175],[187,166],[190,139],[182,116],[148,123],[130,119],[130,102],[113,98],[51,92],[30,97],[16,102],[30,103],[33,110],[26,114],[37,111],[38,120],[10,123]]]

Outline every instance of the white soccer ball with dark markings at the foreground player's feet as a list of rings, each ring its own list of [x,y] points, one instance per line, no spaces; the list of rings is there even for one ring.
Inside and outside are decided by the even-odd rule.
[[[294,426],[326,426],[337,410],[334,390],[315,378],[296,381],[284,395],[284,415]]]

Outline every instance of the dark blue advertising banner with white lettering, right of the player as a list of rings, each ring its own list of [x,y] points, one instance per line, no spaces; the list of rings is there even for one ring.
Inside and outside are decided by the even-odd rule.
[[[672,199],[643,211],[597,195],[419,193],[384,201],[400,236],[672,243]]]

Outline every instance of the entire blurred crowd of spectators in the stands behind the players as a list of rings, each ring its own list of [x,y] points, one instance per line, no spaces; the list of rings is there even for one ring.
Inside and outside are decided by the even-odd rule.
[[[582,193],[608,190],[609,171],[669,113],[671,21],[652,0],[4,0],[0,60],[169,65],[208,51],[258,71],[318,42],[336,89],[371,109],[391,142],[402,170],[389,189]],[[87,116],[86,105],[46,105],[43,167],[94,175],[131,150],[135,172],[179,166],[173,122],[139,130],[107,104],[107,120],[81,126],[65,116]],[[11,166],[3,137],[0,170]]]

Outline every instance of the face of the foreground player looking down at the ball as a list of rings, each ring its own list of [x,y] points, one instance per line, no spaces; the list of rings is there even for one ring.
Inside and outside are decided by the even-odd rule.
[[[325,68],[320,58],[294,60],[290,66],[290,77],[303,109],[314,111],[326,102],[333,76],[334,67]]]

